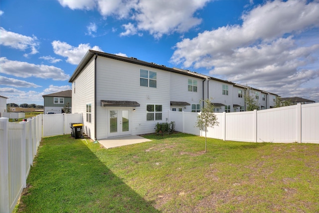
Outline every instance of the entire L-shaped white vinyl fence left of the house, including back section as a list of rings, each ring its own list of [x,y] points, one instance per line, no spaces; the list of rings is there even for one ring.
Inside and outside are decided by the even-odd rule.
[[[8,120],[0,118],[0,213],[14,209],[41,138],[71,134],[69,123],[82,123],[82,114],[40,114],[19,123]]]

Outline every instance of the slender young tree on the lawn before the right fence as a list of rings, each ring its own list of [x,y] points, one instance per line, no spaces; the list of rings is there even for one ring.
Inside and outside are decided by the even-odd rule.
[[[196,127],[200,130],[205,130],[205,152],[207,152],[207,128],[218,126],[219,122],[214,114],[214,105],[211,103],[212,98],[201,100],[200,103],[204,103],[204,107],[197,116]]]

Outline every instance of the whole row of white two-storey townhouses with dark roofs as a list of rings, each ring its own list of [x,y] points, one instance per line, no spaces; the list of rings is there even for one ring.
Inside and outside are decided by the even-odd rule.
[[[275,94],[188,70],[89,50],[75,69],[72,113],[82,113],[84,132],[93,140],[155,132],[169,121],[169,110],[200,112],[201,99],[213,98],[216,112],[244,111],[244,94],[261,108]],[[257,97],[258,96],[258,97]]]

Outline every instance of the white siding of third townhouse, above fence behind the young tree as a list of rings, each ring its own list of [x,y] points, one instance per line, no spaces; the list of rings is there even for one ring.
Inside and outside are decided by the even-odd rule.
[[[222,94],[223,84],[228,85],[228,95]],[[211,79],[209,81],[208,90],[209,90],[208,96],[213,98],[213,101],[212,101],[213,103],[221,103],[224,105],[230,105],[230,111],[233,112],[233,84]],[[205,92],[204,96],[207,97],[207,91],[204,90],[204,92]],[[219,112],[225,111],[224,106],[218,107],[218,108],[219,108]]]

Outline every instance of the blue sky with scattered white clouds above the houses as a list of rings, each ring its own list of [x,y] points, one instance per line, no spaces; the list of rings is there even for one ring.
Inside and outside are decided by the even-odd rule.
[[[1,0],[0,95],[43,105],[89,49],[319,102],[319,0]]]

